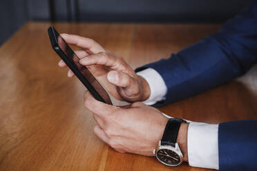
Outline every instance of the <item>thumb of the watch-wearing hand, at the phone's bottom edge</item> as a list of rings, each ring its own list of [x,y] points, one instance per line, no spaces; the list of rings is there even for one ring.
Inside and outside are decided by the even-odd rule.
[[[101,101],[97,101],[88,91],[84,93],[84,105],[88,110],[102,118],[107,117],[120,109],[114,105],[108,105]]]

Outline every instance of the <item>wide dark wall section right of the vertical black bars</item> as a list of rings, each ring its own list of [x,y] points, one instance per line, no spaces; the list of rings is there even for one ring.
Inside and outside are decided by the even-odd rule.
[[[251,0],[79,1],[82,21],[222,22]]]

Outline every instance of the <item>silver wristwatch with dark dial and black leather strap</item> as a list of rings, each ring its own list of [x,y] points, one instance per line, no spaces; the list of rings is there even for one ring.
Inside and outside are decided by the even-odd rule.
[[[164,165],[177,166],[183,161],[183,154],[177,143],[181,123],[187,122],[178,118],[169,119],[166,123],[162,139],[158,143],[158,147],[153,150],[155,157]]]

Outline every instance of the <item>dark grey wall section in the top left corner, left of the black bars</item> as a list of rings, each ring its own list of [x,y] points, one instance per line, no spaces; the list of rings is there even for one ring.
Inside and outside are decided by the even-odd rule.
[[[48,1],[1,0],[0,1],[0,45],[19,27],[30,20],[48,20]]]

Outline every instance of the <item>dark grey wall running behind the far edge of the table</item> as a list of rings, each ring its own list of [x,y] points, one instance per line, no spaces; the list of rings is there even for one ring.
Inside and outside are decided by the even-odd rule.
[[[0,45],[26,21],[223,23],[251,0],[1,0]]]

